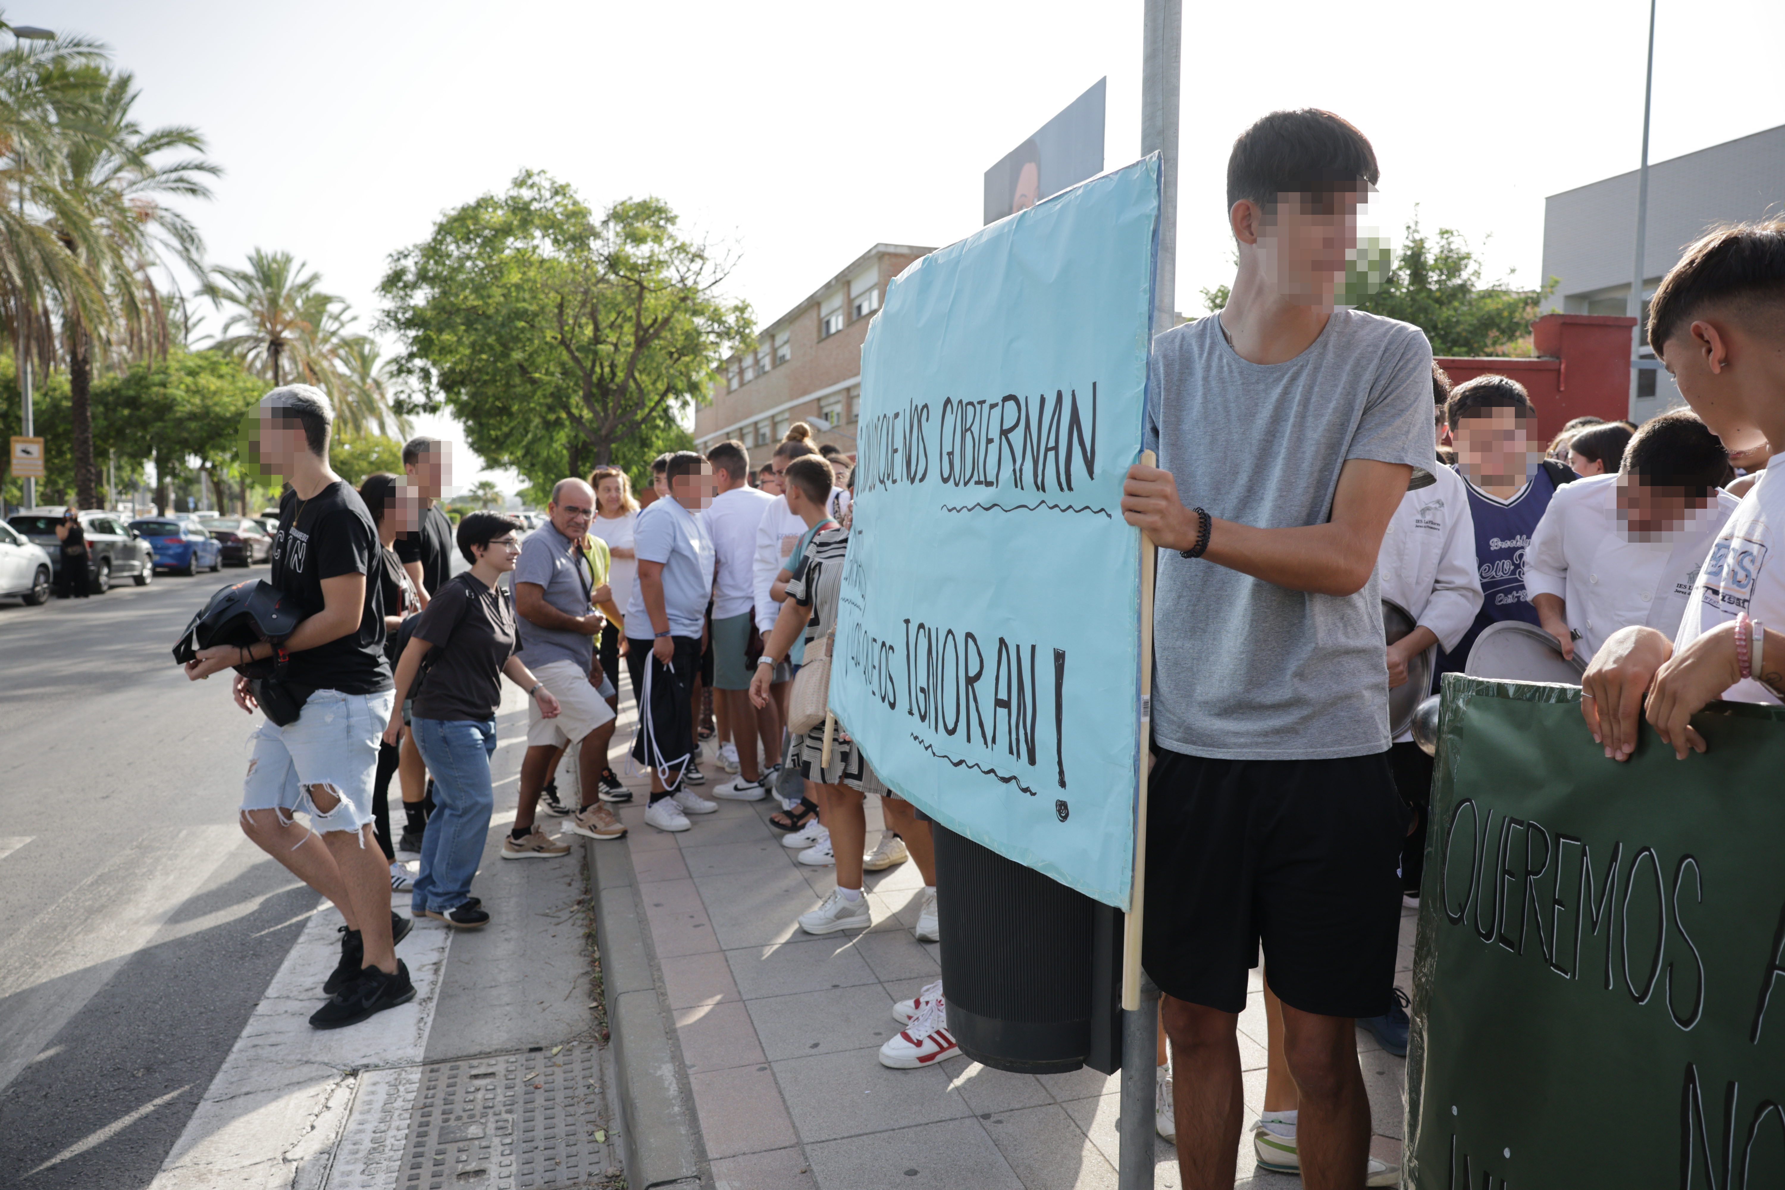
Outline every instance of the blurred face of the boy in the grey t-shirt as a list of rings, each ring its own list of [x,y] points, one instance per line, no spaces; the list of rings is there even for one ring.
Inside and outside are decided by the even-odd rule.
[[[1357,248],[1357,216],[1367,187],[1319,194],[1278,194],[1271,211],[1251,202],[1233,203],[1233,230],[1241,244],[1258,253],[1271,287],[1296,305],[1332,309]],[[1242,248],[1244,252],[1244,248]]]

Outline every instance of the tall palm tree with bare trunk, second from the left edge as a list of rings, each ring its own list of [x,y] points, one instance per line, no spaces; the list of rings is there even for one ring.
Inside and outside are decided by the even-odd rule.
[[[52,214],[50,227],[104,302],[64,293],[57,302],[62,351],[68,359],[73,417],[75,483],[80,503],[98,503],[89,391],[95,351],[121,359],[166,355],[170,330],[152,269],[178,259],[203,275],[198,228],[168,205],[170,198],[211,198],[207,178],[221,173],[202,157],[157,161],[170,150],[202,153],[196,128],[170,125],[145,132],[130,116],[139,91],[129,71],[98,66],[57,66],[52,80],[68,79],[75,96],[64,103],[75,118],[52,161],[57,189],[77,209]]]

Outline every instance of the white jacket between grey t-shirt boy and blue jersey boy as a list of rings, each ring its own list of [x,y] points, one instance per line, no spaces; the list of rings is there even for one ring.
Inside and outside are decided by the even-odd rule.
[[[1474,517],[1460,475],[1433,464],[1437,483],[1401,496],[1376,555],[1382,598],[1398,603],[1414,624],[1430,628],[1444,649],[1457,648],[1482,610],[1474,564]],[[1401,731],[1396,742],[1410,740]]]

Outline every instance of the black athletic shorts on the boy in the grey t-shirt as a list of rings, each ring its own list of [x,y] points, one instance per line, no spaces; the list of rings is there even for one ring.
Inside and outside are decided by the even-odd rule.
[[[1387,753],[1207,760],[1158,749],[1148,780],[1142,963],[1164,992],[1246,1008],[1258,965],[1291,1008],[1389,1012],[1407,803]]]

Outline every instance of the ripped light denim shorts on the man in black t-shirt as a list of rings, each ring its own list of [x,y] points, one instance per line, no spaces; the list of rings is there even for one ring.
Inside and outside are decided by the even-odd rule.
[[[278,810],[289,821],[295,810],[311,815],[311,830],[359,831],[371,822],[371,787],[378,773],[378,737],[391,721],[396,694],[343,694],[316,690],[303,703],[296,723],[278,726],[266,719],[248,737],[248,776],[241,808]],[[341,801],[320,814],[309,785],[327,785]]]

